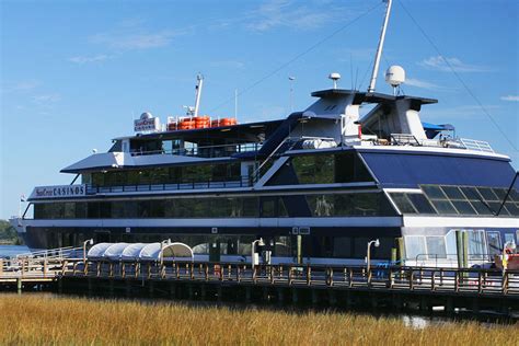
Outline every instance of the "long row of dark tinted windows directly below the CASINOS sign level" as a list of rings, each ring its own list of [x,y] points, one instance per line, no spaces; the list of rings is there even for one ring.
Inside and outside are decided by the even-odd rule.
[[[284,218],[308,208],[308,216],[394,216],[381,193],[286,197],[175,198],[151,200],[67,201],[34,205],[35,219],[105,218]],[[300,204],[302,203],[302,205]],[[304,216],[304,215],[303,215]]]

